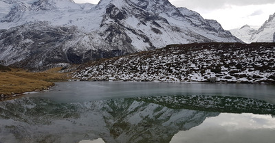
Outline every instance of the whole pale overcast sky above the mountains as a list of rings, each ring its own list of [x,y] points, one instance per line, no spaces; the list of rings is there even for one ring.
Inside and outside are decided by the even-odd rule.
[[[99,0],[74,0],[76,3],[94,3]],[[275,0],[169,0],[176,7],[199,12],[203,18],[217,20],[224,29],[243,25],[261,27],[275,13]]]

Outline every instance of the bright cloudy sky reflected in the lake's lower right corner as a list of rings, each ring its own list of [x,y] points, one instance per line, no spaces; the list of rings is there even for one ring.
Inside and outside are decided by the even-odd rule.
[[[220,114],[206,118],[189,131],[179,131],[170,143],[177,142],[267,142],[275,140],[275,118],[270,115]],[[198,138],[199,137],[199,138]]]

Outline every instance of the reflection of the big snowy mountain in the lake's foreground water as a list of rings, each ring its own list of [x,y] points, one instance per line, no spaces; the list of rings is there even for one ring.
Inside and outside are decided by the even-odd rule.
[[[152,97],[86,103],[55,103],[28,97],[1,102],[1,140],[79,142],[102,138],[104,142],[170,142],[179,131],[188,131],[206,118],[219,116],[219,112],[173,109],[169,103],[176,101],[166,96],[155,98],[167,101],[166,105],[152,103],[148,100]],[[273,129],[274,123],[270,122]]]

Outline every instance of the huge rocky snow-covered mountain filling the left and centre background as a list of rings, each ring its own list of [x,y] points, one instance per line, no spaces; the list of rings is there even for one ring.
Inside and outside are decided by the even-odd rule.
[[[79,64],[167,44],[241,42],[217,21],[176,8],[168,0],[101,0],[98,5],[0,0],[0,4],[0,60],[25,68]]]

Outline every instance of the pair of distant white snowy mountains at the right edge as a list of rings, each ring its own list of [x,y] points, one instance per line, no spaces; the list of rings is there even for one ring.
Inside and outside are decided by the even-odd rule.
[[[270,15],[270,18],[258,30],[245,25],[241,29],[232,29],[230,32],[247,43],[275,42],[275,13]]]

